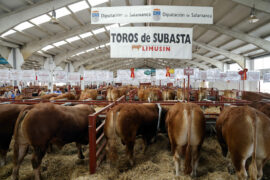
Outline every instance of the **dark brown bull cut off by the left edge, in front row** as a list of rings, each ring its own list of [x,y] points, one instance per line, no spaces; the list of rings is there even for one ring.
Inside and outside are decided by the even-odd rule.
[[[0,166],[6,163],[6,154],[13,135],[16,120],[27,105],[0,105]]]

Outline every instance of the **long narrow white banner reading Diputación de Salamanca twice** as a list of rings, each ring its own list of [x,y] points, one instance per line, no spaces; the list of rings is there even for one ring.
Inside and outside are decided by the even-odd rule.
[[[91,8],[92,24],[144,22],[213,24],[213,7],[155,5]]]

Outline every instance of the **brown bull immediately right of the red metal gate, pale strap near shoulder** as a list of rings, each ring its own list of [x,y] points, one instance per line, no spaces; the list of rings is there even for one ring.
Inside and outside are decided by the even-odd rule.
[[[110,161],[115,162],[117,159],[116,138],[120,137],[126,145],[129,162],[133,165],[136,135],[142,135],[145,151],[147,144],[156,135],[158,126],[165,131],[166,112],[166,109],[156,104],[120,104],[112,108],[107,113],[104,125],[104,134],[108,140],[107,157]]]

